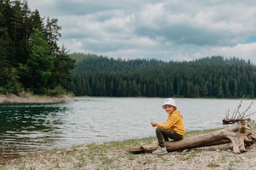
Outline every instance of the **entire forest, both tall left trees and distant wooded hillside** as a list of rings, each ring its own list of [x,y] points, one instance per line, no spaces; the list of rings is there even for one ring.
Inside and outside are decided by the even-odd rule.
[[[68,89],[76,96],[256,96],[256,66],[249,60],[213,56],[164,62],[68,55],[58,46],[57,22],[31,11],[26,0],[0,0],[0,94],[61,94]]]

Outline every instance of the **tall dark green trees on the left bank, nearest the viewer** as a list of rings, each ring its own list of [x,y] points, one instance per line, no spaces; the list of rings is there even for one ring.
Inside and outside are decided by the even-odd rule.
[[[58,19],[43,20],[26,0],[0,0],[0,93],[67,88],[75,61],[57,44]]]

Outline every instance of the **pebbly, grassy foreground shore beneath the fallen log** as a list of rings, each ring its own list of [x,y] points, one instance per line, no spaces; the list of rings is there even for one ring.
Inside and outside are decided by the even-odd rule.
[[[256,144],[246,147],[247,152],[241,154],[233,153],[232,143],[165,155],[128,152],[131,147],[150,143],[157,143],[156,137],[32,153],[2,161],[0,170],[256,170]]]

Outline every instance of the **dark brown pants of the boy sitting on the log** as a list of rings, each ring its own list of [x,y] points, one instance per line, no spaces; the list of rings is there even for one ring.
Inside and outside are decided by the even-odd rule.
[[[180,135],[171,129],[165,129],[162,127],[157,127],[155,130],[155,133],[156,133],[156,137],[158,139],[159,146],[161,148],[164,147],[164,140],[165,140],[165,142],[169,141],[168,138],[171,138],[175,141],[183,139],[183,135]]]

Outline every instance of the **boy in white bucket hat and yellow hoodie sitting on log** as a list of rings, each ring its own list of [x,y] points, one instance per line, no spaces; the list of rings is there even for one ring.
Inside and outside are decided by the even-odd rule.
[[[158,126],[155,132],[159,143],[159,148],[152,152],[152,154],[166,154],[167,150],[166,147],[164,147],[164,140],[169,141],[169,137],[175,141],[178,141],[183,139],[185,134],[185,126],[182,119],[183,116],[178,110],[176,110],[177,107],[175,101],[171,98],[166,99],[162,107],[169,114],[169,116],[167,122],[151,122],[153,127]]]

